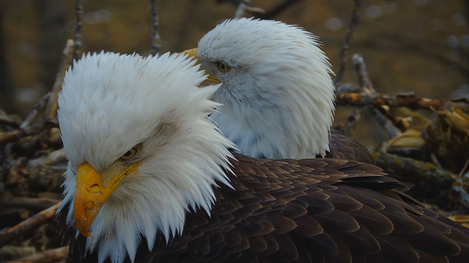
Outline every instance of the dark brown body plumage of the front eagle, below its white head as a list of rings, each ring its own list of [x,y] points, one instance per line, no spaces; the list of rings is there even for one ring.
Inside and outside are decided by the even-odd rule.
[[[158,233],[151,252],[143,240],[135,262],[468,262],[469,229],[402,193],[376,166],[234,156],[235,189],[214,189],[211,217],[191,210],[182,236],[166,244]],[[97,262],[97,253],[83,254],[82,235],[65,232],[69,261]]]

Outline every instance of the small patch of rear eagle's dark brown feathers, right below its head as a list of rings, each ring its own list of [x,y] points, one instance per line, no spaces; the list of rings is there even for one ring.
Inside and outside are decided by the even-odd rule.
[[[329,152],[324,156],[326,158],[346,159],[375,164],[373,155],[371,155],[361,142],[353,137],[345,135],[341,131],[331,130],[329,148]]]

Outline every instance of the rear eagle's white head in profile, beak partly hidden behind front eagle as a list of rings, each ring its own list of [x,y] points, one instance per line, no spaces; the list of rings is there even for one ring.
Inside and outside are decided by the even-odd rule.
[[[230,19],[185,51],[222,86],[212,114],[243,154],[314,158],[329,150],[331,65],[318,37],[283,22]]]

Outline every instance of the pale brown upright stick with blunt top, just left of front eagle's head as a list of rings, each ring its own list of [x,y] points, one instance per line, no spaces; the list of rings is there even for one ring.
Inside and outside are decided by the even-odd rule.
[[[67,71],[70,63],[72,62],[72,57],[74,54],[74,44],[72,39],[67,39],[65,43],[64,50],[62,51],[62,58],[59,64],[59,72],[55,77],[54,86],[52,86],[52,91],[50,92],[49,101],[45,107],[44,118],[50,121],[55,120],[57,108],[59,107],[57,103],[57,98],[59,97],[59,92],[62,90],[62,82],[64,82],[65,72]]]

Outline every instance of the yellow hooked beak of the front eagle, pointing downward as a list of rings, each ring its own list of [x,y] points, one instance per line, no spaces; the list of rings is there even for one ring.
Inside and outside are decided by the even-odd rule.
[[[91,224],[103,207],[104,202],[119,186],[120,182],[137,169],[141,161],[125,167],[116,162],[102,173],[98,173],[88,163],[78,168],[77,188],[73,202],[75,224],[85,237],[91,236]]]

